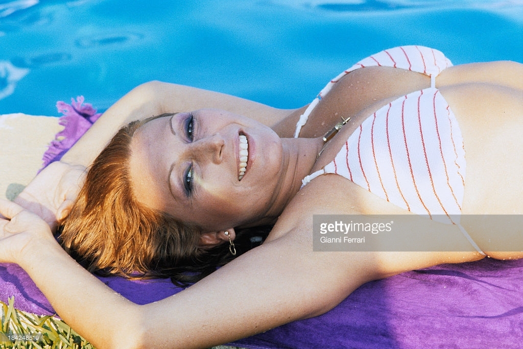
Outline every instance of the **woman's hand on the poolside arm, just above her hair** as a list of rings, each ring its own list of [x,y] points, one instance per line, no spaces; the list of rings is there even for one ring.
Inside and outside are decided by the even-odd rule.
[[[85,167],[55,161],[38,173],[14,202],[54,230],[69,214],[84,181]]]

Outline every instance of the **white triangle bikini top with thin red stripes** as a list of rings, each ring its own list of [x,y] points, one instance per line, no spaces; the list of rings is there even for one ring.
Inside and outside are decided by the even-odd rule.
[[[408,69],[430,76],[431,87],[397,98],[370,115],[335,159],[306,176],[303,185],[336,173],[405,210],[459,225],[465,177],[463,139],[456,117],[435,87],[436,76],[451,65],[437,50],[402,46],[367,57],[331,80],[300,118],[295,137],[332,86],[356,69]]]

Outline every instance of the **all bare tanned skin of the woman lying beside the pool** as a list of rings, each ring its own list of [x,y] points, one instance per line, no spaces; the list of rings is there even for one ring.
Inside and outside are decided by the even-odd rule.
[[[513,62],[453,66],[436,79],[436,87],[456,114],[466,149],[461,223],[481,250],[495,259],[523,258],[520,229],[476,219],[478,215],[523,214],[521,82],[523,65]],[[97,347],[186,348],[229,343],[320,315],[372,280],[441,263],[480,260],[484,255],[456,226],[415,214],[411,214],[412,229],[397,231],[397,238],[411,239],[413,233],[424,231],[438,239],[440,232],[448,232],[449,239],[443,242],[464,246],[463,251],[315,252],[311,248],[313,215],[409,213],[337,175],[319,176],[295,193],[301,179],[332,161],[369,115],[397,96],[427,88],[430,83],[426,75],[392,67],[351,72],[311,113],[300,134],[311,138],[298,140],[278,139],[252,120],[218,110],[195,112],[198,121],[190,142],[183,133],[186,123],[181,121],[188,114],[177,114],[172,127],[170,118],[143,126],[133,139],[130,168],[141,202],[207,230],[254,225],[278,216],[263,245],[175,296],[147,305],[128,301],[78,265],[56,243],[44,220],[12,202],[0,201],[0,213],[7,218],[0,219],[0,261],[19,264],[56,313]],[[69,165],[51,164],[21,198],[31,201],[37,197],[59,217],[64,200],[74,199],[78,186],[77,176],[65,181],[64,176],[72,173],[73,165],[88,166],[122,119],[128,122],[143,115],[202,107],[265,119],[281,137],[292,137],[301,114],[300,110],[275,110],[179,85],[146,84],[104,113],[87,137],[66,154],[65,159],[72,161]],[[339,115],[348,115],[351,120],[312,166],[322,147],[321,139],[314,137],[330,130],[339,122]],[[239,132],[249,138],[252,162],[241,181],[235,150],[231,150]],[[312,150],[304,151],[305,146]],[[141,161],[145,164],[140,167],[137,164]],[[188,199],[181,182],[187,179],[190,164],[194,176],[189,179],[193,179],[195,194]],[[496,240],[510,243],[506,246],[515,251],[497,251]],[[226,323],[220,316],[223,314],[227,315]]]

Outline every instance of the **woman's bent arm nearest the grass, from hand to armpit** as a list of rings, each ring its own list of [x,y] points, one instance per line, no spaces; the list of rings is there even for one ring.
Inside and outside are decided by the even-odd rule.
[[[79,266],[37,216],[20,213],[13,203],[0,203],[0,210],[12,217],[10,223],[0,223],[0,261],[20,264],[60,317],[100,348],[229,342],[319,315],[371,275],[371,263],[354,256],[346,260],[354,262],[349,270],[339,263],[342,255],[312,253],[310,241],[289,234],[244,254],[184,292],[138,306]],[[56,275],[61,277],[57,280]],[[226,314],[228,323],[217,314]]]

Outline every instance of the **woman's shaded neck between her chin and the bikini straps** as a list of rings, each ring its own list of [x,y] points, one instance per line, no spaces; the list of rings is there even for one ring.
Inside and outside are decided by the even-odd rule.
[[[274,224],[285,207],[298,193],[302,179],[309,175],[316,162],[322,138],[282,138],[282,177],[274,201],[264,218],[249,226]]]

